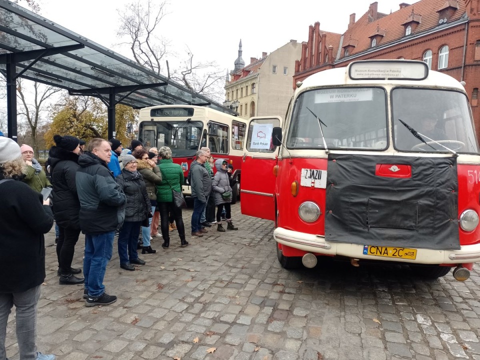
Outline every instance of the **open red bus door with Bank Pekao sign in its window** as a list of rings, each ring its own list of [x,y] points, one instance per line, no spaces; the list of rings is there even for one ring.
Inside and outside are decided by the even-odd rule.
[[[251,117],[241,165],[240,208],[245,215],[275,220],[275,176],[278,149],[273,145],[273,127],[279,116]]]

